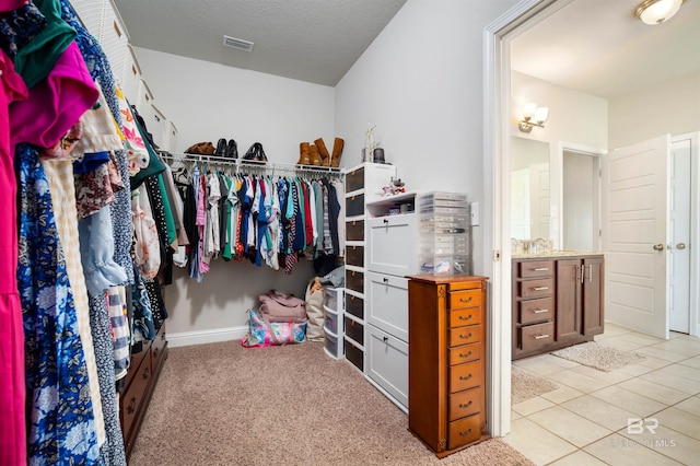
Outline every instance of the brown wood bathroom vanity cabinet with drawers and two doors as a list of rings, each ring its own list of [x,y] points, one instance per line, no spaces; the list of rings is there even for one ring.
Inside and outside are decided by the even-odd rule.
[[[602,334],[604,277],[603,256],[513,259],[513,359]]]

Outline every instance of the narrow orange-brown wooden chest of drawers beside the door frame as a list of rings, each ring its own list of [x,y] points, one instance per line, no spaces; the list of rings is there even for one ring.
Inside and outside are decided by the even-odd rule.
[[[408,282],[408,428],[439,457],[489,439],[486,278]]]

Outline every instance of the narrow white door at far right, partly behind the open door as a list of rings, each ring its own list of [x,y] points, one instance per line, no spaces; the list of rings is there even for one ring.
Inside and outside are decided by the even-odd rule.
[[[670,329],[690,331],[690,139],[673,142],[668,177],[668,313]]]

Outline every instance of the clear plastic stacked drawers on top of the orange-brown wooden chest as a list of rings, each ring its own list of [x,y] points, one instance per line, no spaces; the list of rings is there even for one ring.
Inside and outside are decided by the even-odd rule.
[[[466,194],[427,193],[417,201],[421,272],[471,272],[471,219]]]

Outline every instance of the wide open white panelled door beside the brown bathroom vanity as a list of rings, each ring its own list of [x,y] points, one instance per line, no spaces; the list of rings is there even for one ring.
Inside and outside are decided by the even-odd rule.
[[[666,310],[669,136],[616,149],[603,167],[606,319],[668,338]]]

